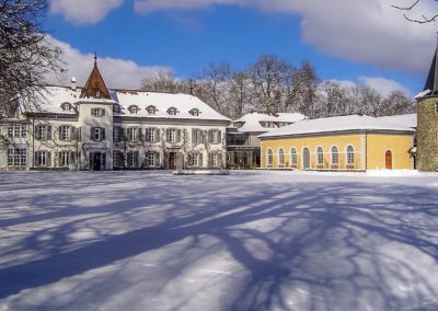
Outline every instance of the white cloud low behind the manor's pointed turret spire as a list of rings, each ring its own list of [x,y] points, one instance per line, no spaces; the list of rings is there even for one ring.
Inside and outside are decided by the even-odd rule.
[[[60,42],[54,37],[49,36],[48,39],[62,50],[62,59],[66,62],[65,68],[67,69],[67,72],[48,77],[49,82],[68,85],[71,78],[76,77],[78,85],[84,85],[93,68],[94,55],[82,54],[68,43]],[[169,67],[143,67],[131,60],[111,57],[100,57],[97,64],[108,88],[138,89],[142,79],[152,77],[160,70],[170,70]]]

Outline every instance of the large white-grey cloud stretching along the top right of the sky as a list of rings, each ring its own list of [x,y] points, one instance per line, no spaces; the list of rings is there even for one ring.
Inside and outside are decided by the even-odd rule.
[[[239,4],[302,18],[304,41],[323,53],[379,69],[426,74],[435,46],[434,24],[410,23],[391,4],[405,0],[136,0],[137,12],[205,9]],[[437,11],[434,0],[422,1],[413,18]],[[434,4],[435,3],[435,4]]]

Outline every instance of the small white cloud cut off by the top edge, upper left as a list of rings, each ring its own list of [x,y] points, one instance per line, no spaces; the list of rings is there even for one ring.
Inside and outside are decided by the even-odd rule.
[[[50,12],[72,24],[94,24],[119,7],[124,0],[51,0]]]

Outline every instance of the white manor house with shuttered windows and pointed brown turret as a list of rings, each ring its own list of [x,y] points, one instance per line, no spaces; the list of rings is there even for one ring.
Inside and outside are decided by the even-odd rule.
[[[0,170],[220,169],[230,119],[188,94],[47,87],[38,111],[0,118]]]

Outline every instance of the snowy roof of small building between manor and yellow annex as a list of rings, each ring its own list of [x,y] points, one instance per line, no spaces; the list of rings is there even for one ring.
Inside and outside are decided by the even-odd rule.
[[[296,123],[304,119],[306,116],[299,113],[279,113],[276,115],[250,113],[245,114],[241,118],[233,120],[233,123],[243,123],[239,128],[239,131],[269,131],[273,128],[263,127],[261,123],[274,122],[274,123]]]

